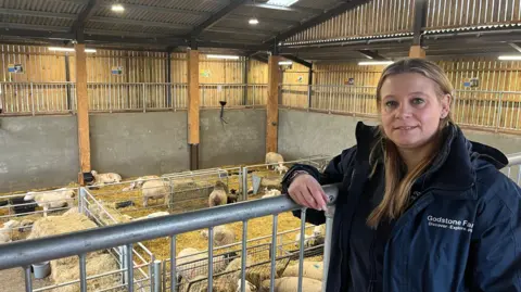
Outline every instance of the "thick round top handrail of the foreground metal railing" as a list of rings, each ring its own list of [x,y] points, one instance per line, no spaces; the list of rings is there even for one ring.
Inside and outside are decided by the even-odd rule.
[[[323,186],[334,204],[338,186]],[[0,245],[0,270],[298,210],[287,195]]]

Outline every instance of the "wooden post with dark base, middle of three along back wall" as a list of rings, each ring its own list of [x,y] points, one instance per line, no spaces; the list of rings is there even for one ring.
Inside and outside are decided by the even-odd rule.
[[[190,144],[190,169],[199,169],[199,51],[188,52],[188,143]]]

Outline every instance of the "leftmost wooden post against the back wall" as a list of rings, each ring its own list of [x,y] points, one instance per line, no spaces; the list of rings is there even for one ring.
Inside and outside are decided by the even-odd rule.
[[[87,54],[85,45],[77,43],[76,49],[76,98],[78,118],[78,153],[79,174],[78,182],[84,186],[82,173],[89,173],[90,168],[90,138],[89,138],[89,97],[87,93]]]

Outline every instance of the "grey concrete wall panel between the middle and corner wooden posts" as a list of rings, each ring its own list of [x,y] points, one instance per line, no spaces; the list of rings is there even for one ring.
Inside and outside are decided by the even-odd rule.
[[[262,163],[266,154],[266,110],[201,112],[201,168]]]

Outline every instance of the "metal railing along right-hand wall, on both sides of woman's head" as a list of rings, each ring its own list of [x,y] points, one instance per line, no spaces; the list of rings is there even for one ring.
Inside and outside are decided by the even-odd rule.
[[[376,87],[280,85],[288,109],[377,116]],[[465,126],[521,130],[521,91],[456,90],[453,118]]]

